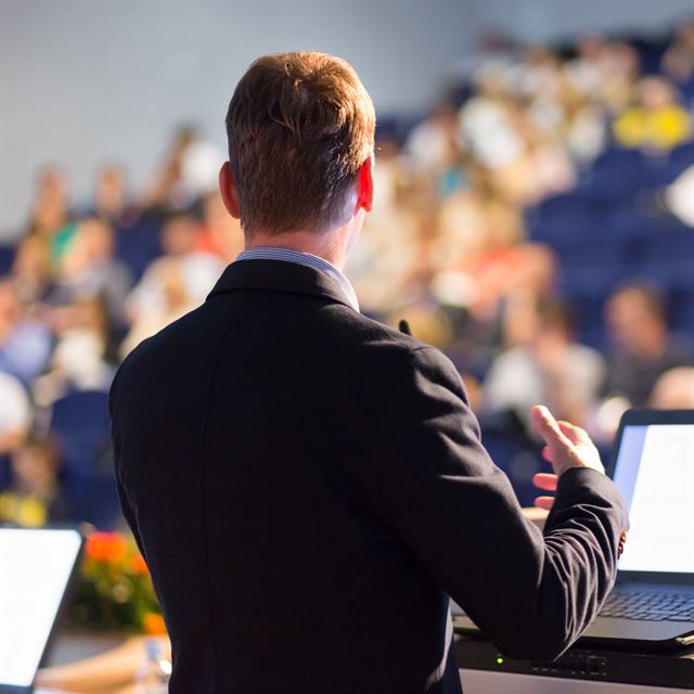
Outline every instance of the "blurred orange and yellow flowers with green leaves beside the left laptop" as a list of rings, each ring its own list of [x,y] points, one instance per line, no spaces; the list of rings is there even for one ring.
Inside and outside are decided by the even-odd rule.
[[[93,532],[87,538],[69,619],[89,629],[166,633],[147,565],[132,537]]]

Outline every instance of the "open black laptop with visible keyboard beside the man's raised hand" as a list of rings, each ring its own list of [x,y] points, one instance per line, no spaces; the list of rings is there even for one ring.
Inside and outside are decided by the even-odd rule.
[[[629,506],[629,536],[615,588],[579,643],[694,645],[694,410],[625,412],[608,473]],[[454,626],[478,631],[464,614]]]

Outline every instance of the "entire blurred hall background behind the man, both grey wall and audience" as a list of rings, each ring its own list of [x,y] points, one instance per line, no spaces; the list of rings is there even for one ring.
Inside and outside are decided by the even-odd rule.
[[[372,94],[346,273],[452,359],[523,504],[531,404],[605,457],[627,407],[694,407],[691,0],[0,0],[0,522],[121,528],[111,381],[242,249],[226,110],[287,50]]]

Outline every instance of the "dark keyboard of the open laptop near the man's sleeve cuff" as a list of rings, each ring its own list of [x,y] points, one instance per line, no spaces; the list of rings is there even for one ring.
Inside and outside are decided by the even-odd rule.
[[[600,616],[646,621],[694,621],[694,595],[615,590],[607,597]]]

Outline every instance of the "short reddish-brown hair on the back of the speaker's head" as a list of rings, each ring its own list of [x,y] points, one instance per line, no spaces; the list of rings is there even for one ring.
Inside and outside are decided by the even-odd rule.
[[[375,114],[354,68],[324,53],[259,57],[229,104],[229,159],[246,234],[340,223],[373,152]]]

